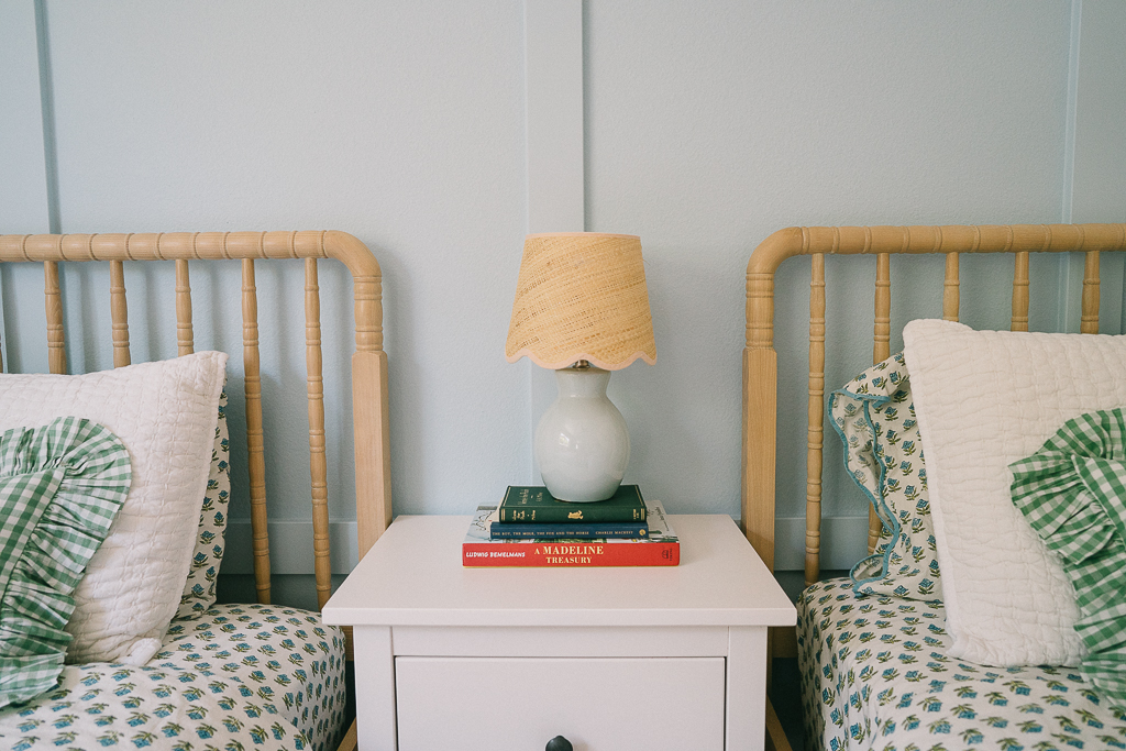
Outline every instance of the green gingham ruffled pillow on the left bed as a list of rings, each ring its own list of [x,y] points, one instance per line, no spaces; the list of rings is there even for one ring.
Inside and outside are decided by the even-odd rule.
[[[89,420],[0,436],[0,707],[54,688],[72,594],[132,479],[125,446]]]

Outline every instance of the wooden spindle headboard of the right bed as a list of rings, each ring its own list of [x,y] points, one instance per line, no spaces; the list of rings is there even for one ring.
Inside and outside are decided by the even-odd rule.
[[[821,467],[824,421],[824,257],[876,256],[873,361],[886,359],[891,340],[892,253],[945,253],[942,318],[958,320],[960,253],[1013,253],[1013,331],[1028,330],[1028,253],[1084,252],[1080,330],[1099,330],[1099,253],[1126,250],[1126,224],[1012,224],[1000,226],[789,227],[762,241],[747,265],[747,347],[743,350],[743,520],[747,538],[774,569],[775,453],[778,357],[774,349],[774,278],[793,256],[811,256],[810,401],[806,454],[805,581],[820,573]],[[868,520],[873,551],[881,522]]]

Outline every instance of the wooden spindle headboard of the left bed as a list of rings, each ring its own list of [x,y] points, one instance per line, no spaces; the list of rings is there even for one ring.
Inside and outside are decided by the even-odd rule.
[[[383,351],[379,265],[359,240],[343,232],[176,232],[167,234],[0,235],[0,262],[42,261],[46,281],[47,361],[66,373],[59,261],[109,261],[114,367],[129,364],[129,331],[123,261],[176,262],[176,331],[179,355],[194,351],[191,259],[242,260],[242,357],[245,368],[247,448],[250,474],[252,553],[259,602],[270,601],[266,518],[266,463],[258,352],[254,261],[305,259],[305,363],[309,392],[309,455],[312,471],[313,551],[319,606],[331,594],[329,507],[324,456],[324,394],[321,377],[321,302],[316,259],[334,258],[352,276],[356,352],[351,360],[356,448],[356,521],[360,557],[391,522],[391,445],[387,419],[387,356]],[[0,364],[2,369],[2,364]]]

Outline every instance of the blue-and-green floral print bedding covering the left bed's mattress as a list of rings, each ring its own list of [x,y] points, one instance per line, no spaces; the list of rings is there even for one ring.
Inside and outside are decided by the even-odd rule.
[[[68,665],[54,690],[0,710],[12,751],[331,751],[345,638],[318,614],[216,605],[173,620],[146,665]]]

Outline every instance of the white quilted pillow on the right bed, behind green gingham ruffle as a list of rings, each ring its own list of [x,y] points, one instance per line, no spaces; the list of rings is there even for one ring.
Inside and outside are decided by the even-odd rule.
[[[951,656],[1079,664],[1075,592],[1010,500],[1009,464],[1071,418],[1126,405],[1126,337],[912,321],[903,354],[927,455]]]

